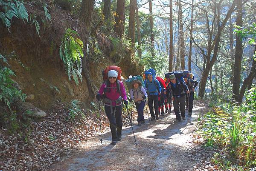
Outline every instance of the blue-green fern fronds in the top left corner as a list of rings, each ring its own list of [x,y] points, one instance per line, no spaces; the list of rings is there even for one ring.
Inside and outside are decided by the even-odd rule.
[[[0,6],[2,6],[3,9],[3,12],[0,12],[0,18],[8,30],[12,25],[11,21],[13,17],[22,19],[24,22],[25,20],[28,22],[29,14],[23,1],[0,0]]]

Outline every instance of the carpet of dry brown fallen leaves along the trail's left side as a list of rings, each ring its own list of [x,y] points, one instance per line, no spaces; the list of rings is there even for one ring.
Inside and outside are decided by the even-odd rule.
[[[61,153],[75,149],[75,145],[89,137],[99,135],[99,118],[96,114],[86,114],[84,123],[70,123],[66,121],[67,113],[63,108],[63,105],[58,106],[43,120],[32,122],[34,130],[29,137],[21,134],[8,136],[2,128],[0,170],[46,170],[55,160],[59,160]],[[130,125],[127,111],[125,113],[123,123]],[[132,119],[137,120],[137,113],[132,113]],[[101,116],[104,131],[109,128],[109,122],[105,112],[101,111]]]

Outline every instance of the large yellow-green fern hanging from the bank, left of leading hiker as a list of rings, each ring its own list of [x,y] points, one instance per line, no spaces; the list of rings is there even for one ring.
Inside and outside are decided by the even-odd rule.
[[[66,33],[60,46],[60,57],[63,60],[69,80],[71,77],[76,85],[79,85],[79,79],[82,81],[82,57],[83,42],[77,37],[79,34],[71,28],[66,29]]]

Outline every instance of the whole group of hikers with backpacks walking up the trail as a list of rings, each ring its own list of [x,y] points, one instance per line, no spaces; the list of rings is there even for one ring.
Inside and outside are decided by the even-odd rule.
[[[96,99],[103,100],[105,104],[105,112],[112,134],[111,144],[122,140],[122,104],[126,109],[128,105],[121,73],[121,68],[117,66],[108,66],[102,71],[104,83],[96,95]],[[138,125],[145,123],[143,111],[146,100],[152,121],[159,120],[160,114],[164,116],[165,113],[170,113],[172,104],[176,115],[175,122],[181,122],[181,118],[186,120],[186,108],[189,113],[188,117],[192,116],[194,92],[198,81],[194,80],[191,72],[187,70],[169,72],[165,74],[165,79],[162,79],[156,76],[153,68],[150,68],[144,72],[143,77],[144,81],[141,76],[130,76],[128,80],[125,80],[130,93],[129,102],[135,103],[138,112]]]

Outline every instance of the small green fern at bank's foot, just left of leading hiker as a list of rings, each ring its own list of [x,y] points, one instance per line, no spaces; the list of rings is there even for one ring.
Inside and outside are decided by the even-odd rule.
[[[85,118],[85,115],[83,111],[80,109],[78,100],[72,100],[71,101],[71,107],[68,109],[69,113],[67,116],[68,120],[71,120],[71,122],[79,122]]]

